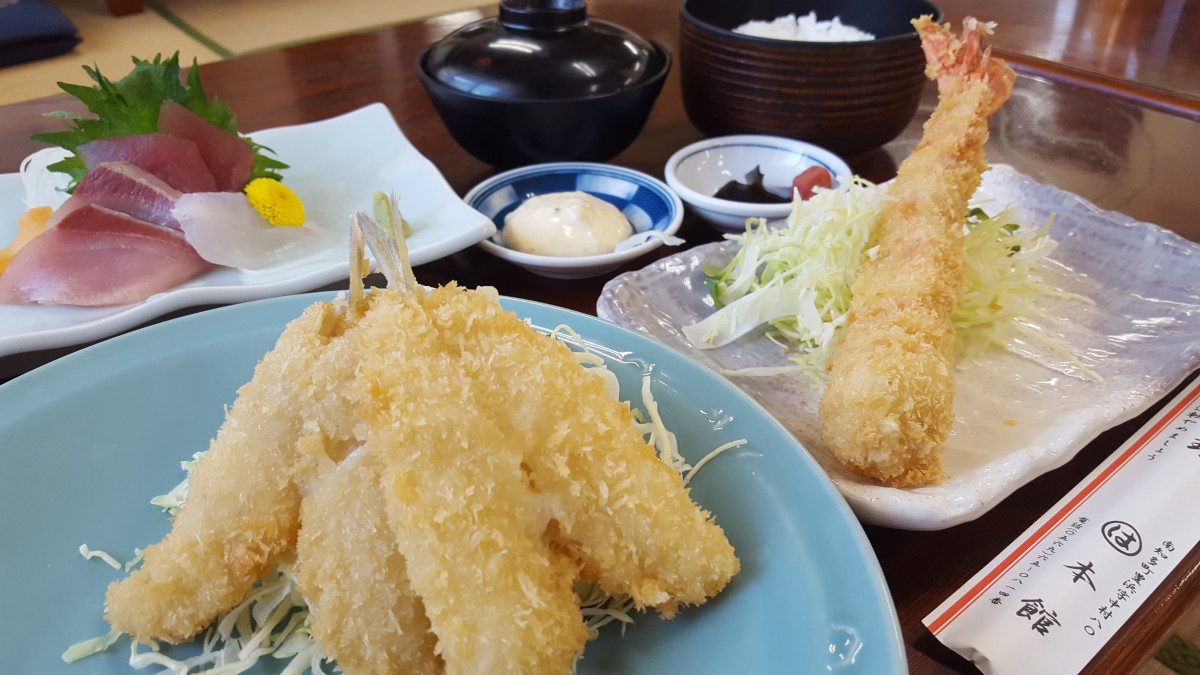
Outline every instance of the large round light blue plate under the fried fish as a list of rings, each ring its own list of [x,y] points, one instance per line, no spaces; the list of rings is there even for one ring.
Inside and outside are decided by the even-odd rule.
[[[168,521],[149,500],[208,447],[239,386],[284,324],[331,294],[227,306],[101,342],[0,386],[0,671],[128,673],[128,641],[74,664],[102,635],[104,589],[124,577],[79,544],[120,560]],[[905,673],[895,610],[858,521],[792,436],[724,378],[623,328],[505,299],[535,325],[566,323],[637,396],[643,372],[691,461],[737,438],[692,480],[742,573],[672,621],[606,627],[581,674]],[[636,399],[635,399],[636,400]],[[484,592],[484,590],[481,590]],[[278,673],[281,662],[254,673]]]

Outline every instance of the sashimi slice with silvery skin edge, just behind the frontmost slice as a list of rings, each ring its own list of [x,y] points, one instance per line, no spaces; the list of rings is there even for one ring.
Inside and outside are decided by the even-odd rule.
[[[133,162],[104,162],[88,172],[71,198],[50,216],[47,227],[58,227],[62,219],[84,204],[96,204],[179,229],[179,221],[172,211],[182,196],[182,192]]]

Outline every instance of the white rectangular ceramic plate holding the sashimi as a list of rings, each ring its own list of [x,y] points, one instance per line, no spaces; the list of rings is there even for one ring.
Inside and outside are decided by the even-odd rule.
[[[241,303],[311,291],[349,275],[349,219],[370,208],[374,191],[395,191],[413,226],[414,265],[491,237],[496,226],[469,208],[428,159],[404,138],[391,112],[372,103],[322,121],[248,133],[287,162],[283,183],[305,203],[308,220],[337,233],[336,245],[257,270],[218,267],[140,303],[112,307],[0,304],[0,357],[78,345],[198,305]],[[0,175],[0,243],[17,234],[29,207],[19,174]]]

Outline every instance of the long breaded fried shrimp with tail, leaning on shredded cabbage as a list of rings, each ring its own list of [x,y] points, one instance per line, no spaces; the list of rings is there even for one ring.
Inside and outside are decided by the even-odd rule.
[[[961,41],[929,17],[913,25],[938,102],[888,189],[878,256],[854,282],[820,407],[822,437],[839,461],[901,488],[942,476],[954,423],[950,316],[962,287],[962,220],[988,168],[988,118],[1015,78],[982,48],[988,24],[964,19]]]

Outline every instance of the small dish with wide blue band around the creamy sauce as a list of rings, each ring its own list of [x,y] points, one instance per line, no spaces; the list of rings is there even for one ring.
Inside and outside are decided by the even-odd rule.
[[[634,235],[611,253],[541,256],[509,249],[502,243],[504,219],[526,199],[552,192],[587,192],[617,207],[629,219]],[[596,162],[548,162],[498,173],[463,197],[467,205],[492,219],[496,234],[479,243],[485,251],[553,279],[583,279],[617,269],[665,241],[678,241],[683,202],[661,180],[630,168]]]

